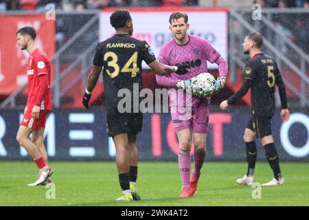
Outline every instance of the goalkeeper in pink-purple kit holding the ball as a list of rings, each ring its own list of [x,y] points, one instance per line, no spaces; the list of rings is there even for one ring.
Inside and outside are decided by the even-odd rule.
[[[171,117],[179,140],[179,170],[182,181],[179,197],[190,197],[196,191],[206,154],[210,96],[225,87],[227,62],[208,41],[187,33],[190,27],[187,23],[187,14],[174,12],[170,15],[169,21],[174,39],[163,45],[159,52],[159,61],[165,65],[185,63],[188,72],[181,76],[157,75],[156,78],[158,85],[170,88],[168,94]],[[220,76],[213,87],[207,91],[201,91],[194,87],[193,81],[198,74],[207,72],[207,61],[218,65]],[[189,109],[189,111],[184,111],[184,109]],[[190,178],[192,142],[194,144],[194,168]]]

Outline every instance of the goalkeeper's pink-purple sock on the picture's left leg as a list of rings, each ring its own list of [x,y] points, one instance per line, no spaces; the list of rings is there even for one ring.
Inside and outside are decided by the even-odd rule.
[[[190,150],[189,151],[179,150],[178,164],[179,164],[179,170],[181,172],[181,181],[183,183],[182,188],[189,189],[190,165],[191,165]]]

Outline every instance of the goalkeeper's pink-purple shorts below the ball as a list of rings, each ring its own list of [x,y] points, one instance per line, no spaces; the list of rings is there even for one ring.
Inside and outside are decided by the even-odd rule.
[[[179,132],[183,129],[190,129],[193,133],[207,133],[209,108],[209,105],[200,105],[198,107],[192,107],[192,112],[190,112],[190,108],[171,107],[171,116],[175,131]]]

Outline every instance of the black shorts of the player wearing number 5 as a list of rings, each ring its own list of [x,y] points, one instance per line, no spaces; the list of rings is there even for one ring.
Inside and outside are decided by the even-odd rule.
[[[248,122],[247,129],[255,132],[256,137],[271,135],[271,116],[257,117],[252,116]]]

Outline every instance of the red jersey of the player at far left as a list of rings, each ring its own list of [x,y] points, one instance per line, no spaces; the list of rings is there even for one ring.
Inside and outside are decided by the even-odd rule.
[[[27,108],[32,109],[35,105],[38,89],[40,88],[38,78],[42,74],[48,76],[48,87],[41,101],[41,110],[52,110],[52,91],[51,91],[51,66],[49,58],[42,50],[36,48],[29,56],[27,62],[28,76],[28,100]]]

